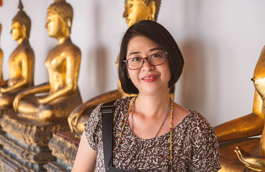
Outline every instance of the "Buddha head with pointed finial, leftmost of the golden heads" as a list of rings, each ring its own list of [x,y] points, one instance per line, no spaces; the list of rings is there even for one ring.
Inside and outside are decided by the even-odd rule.
[[[23,5],[20,0],[20,4],[18,5],[18,8],[20,11],[17,12],[17,14],[14,16],[12,20],[12,36],[13,40],[18,40],[21,38],[29,38],[30,33],[30,27],[31,27],[31,21],[29,19],[29,16],[23,11]]]

